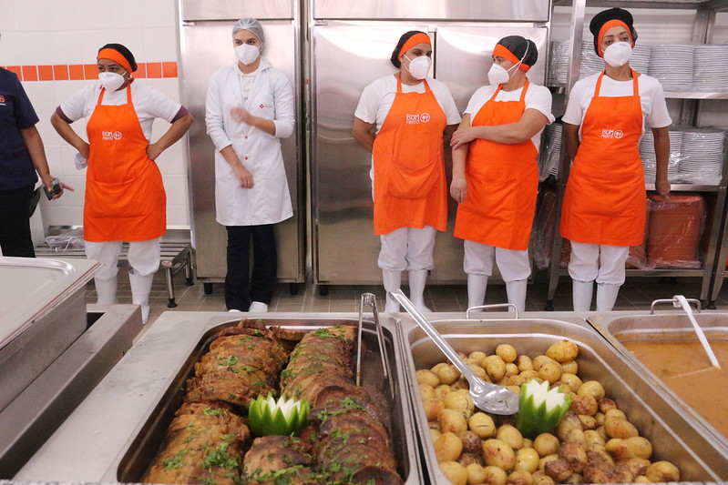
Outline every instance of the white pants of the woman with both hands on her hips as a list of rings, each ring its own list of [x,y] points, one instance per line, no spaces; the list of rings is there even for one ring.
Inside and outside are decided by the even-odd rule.
[[[99,279],[116,278],[118,273],[118,255],[121,253],[122,241],[91,242],[84,241],[86,257],[96,259],[103,267],[96,274]],[[147,276],[159,269],[161,249],[159,237],[149,241],[132,241],[128,243],[128,262],[135,275]]]

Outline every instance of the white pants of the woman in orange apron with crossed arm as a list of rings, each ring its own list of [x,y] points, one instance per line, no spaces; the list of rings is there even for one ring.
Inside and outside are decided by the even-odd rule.
[[[496,248],[487,244],[465,240],[463,268],[468,275],[491,276],[495,259],[505,282],[527,279],[531,275],[528,249]]]

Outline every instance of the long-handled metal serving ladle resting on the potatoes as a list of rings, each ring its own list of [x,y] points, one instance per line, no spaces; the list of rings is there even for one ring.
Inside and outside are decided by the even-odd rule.
[[[457,370],[460,371],[460,374],[467,379],[468,384],[470,384],[470,397],[473,398],[473,402],[477,409],[483,409],[484,411],[492,412],[493,414],[516,414],[518,412],[518,394],[510,389],[490,384],[489,382],[478,378],[475,373],[467,367],[467,364],[463,361],[463,359],[460,359],[460,356],[457,355],[455,349],[450,347],[450,344],[447,343],[446,339],[442,338],[442,336],[437,333],[437,330],[432,326],[427,318],[422,315],[420,310],[415,307],[409,298],[405,297],[405,294],[401,289],[391,291],[390,295],[392,295],[392,297],[394,297],[399,304],[405,308],[412,318],[415,318],[417,325],[425,330],[427,336],[432,338],[435,345],[442,350],[447,359],[450,359],[450,362],[452,362]]]

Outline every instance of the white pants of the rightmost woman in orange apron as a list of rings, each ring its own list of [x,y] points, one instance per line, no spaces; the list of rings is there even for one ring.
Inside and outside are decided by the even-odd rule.
[[[629,246],[606,246],[571,241],[569,276],[577,281],[594,281],[600,285],[624,283],[624,263]]]

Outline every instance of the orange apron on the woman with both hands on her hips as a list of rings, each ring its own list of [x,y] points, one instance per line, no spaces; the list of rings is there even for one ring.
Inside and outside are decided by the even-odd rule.
[[[84,207],[87,241],[146,241],[167,227],[167,196],[159,168],[147,157],[127,86],[127,104],[103,106],[105,89],[88,119],[90,154]]]

